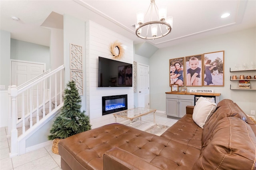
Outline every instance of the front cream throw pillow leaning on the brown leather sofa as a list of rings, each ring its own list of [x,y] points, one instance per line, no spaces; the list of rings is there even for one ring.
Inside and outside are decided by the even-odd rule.
[[[192,118],[194,122],[204,128],[204,124],[209,115],[212,115],[216,110],[216,103],[209,102],[206,98],[200,97],[194,107]]]

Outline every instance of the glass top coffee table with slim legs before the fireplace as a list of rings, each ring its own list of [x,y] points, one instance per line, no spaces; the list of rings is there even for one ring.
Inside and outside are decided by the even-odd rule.
[[[154,124],[156,123],[156,109],[150,109],[150,108],[134,108],[134,109],[129,109],[129,110],[124,110],[124,111],[120,111],[120,112],[116,112],[113,114],[113,116],[115,117],[115,121],[116,118],[123,118],[126,120],[130,120],[130,126],[132,126],[132,121],[136,118],[140,118],[142,116],[145,116],[147,114],[150,113],[154,113]]]

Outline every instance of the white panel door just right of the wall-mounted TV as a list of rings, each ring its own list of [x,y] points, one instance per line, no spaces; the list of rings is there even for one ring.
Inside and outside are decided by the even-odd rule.
[[[149,103],[149,66],[138,64],[138,106],[150,108]]]

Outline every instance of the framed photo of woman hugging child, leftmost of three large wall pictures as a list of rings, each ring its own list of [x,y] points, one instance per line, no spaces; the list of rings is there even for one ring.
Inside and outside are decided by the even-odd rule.
[[[170,87],[172,84],[184,86],[184,57],[170,59],[169,66]]]

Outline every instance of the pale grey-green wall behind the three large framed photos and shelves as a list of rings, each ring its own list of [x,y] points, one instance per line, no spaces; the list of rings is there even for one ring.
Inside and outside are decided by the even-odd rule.
[[[166,110],[165,92],[170,92],[169,60],[196,54],[224,50],[224,87],[193,87],[213,89],[221,93],[220,100],[232,99],[246,112],[256,110],[256,90],[230,90],[230,68],[235,64],[256,62],[256,28],[200,39],[159,49],[150,58],[150,102],[151,108]],[[245,73],[246,74],[246,73]],[[252,82],[255,84],[255,81]],[[188,90],[192,87],[188,87]]]

